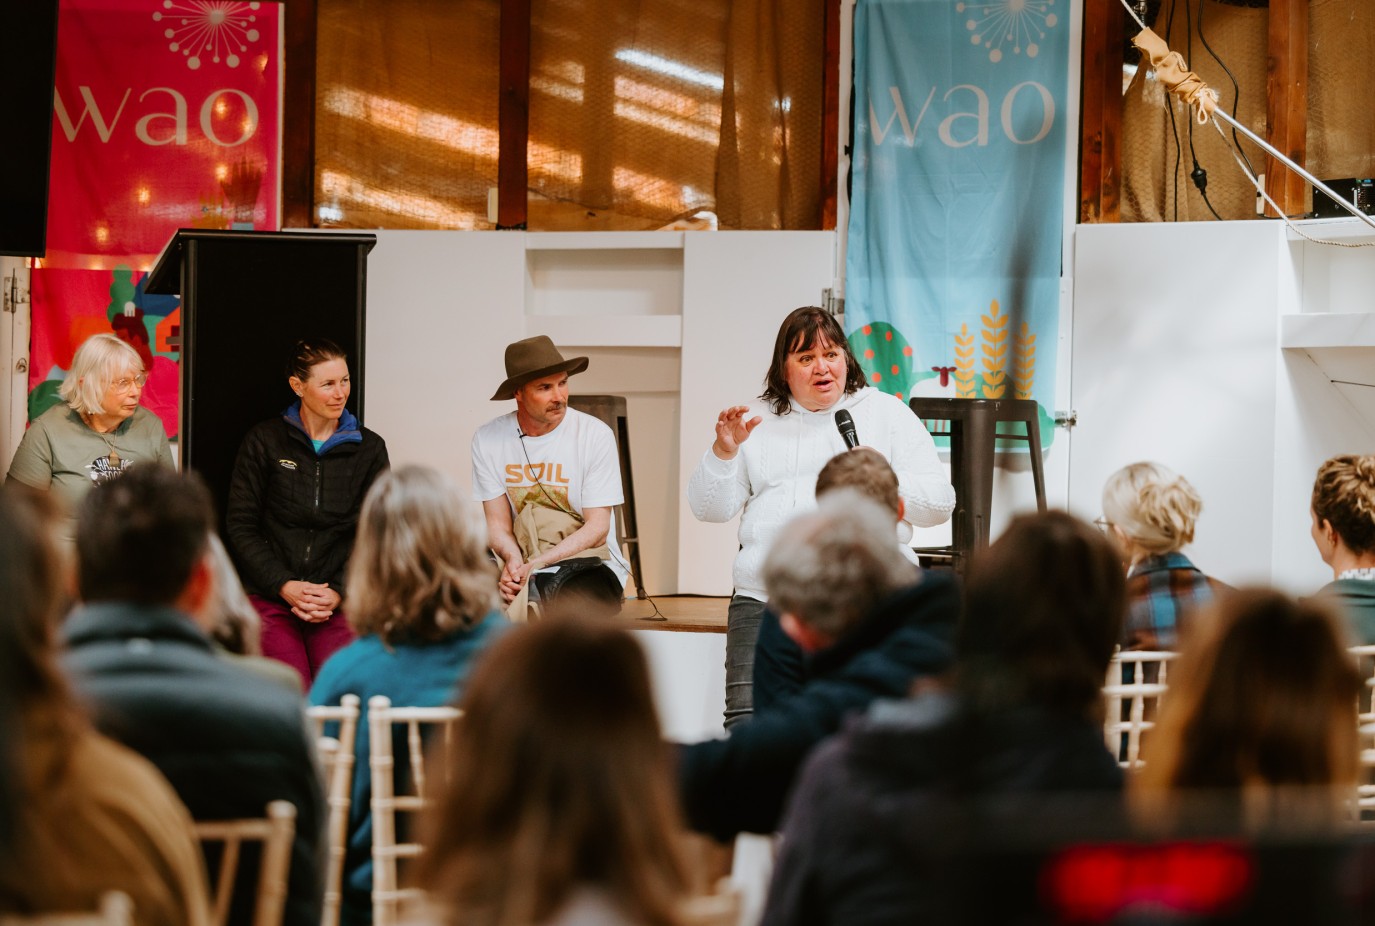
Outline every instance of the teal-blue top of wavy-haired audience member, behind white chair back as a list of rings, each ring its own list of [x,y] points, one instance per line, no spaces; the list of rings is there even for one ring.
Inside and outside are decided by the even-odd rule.
[[[388,648],[381,637],[368,634],[336,652],[320,667],[320,674],[311,685],[312,704],[338,704],[344,695],[358,695],[363,702],[363,717],[355,740],[353,793],[348,812],[348,850],[344,856],[344,923],[371,922],[373,783],[368,773],[368,699],[386,695],[396,707],[455,703],[477,655],[509,626],[505,615],[492,611],[470,630],[436,643]],[[402,729],[396,731],[393,753],[396,777],[404,782],[410,769]]]

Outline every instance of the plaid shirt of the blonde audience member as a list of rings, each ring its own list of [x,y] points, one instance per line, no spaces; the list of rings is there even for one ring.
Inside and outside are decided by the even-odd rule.
[[[1148,556],[1126,574],[1123,649],[1174,649],[1180,626],[1226,586],[1203,575],[1182,553]]]

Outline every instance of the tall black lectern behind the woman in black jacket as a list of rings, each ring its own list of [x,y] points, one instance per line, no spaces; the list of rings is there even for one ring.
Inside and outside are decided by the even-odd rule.
[[[182,468],[205,477],[223,524],[239,442],[294,400],[283,372],[292,344],[327,337],[348,354],[363,421],[368,234],[182,228],[147,292],[182,296]]]

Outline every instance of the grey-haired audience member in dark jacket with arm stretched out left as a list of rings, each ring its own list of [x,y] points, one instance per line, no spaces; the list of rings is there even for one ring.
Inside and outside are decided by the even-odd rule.
[[[773,832],[817,743],[846,715],[902,698],[952,659],[954,579],[918,574],[892,541],[892,512],[854,490],[830,493],[791,520],[764,559],[763,579],[784,630],[811,654],[810,676],[726,739],[681,749],[689,824],[718,839]]]

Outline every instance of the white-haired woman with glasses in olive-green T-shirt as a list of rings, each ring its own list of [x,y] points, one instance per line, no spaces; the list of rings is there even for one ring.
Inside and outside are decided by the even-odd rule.
[[[172,465],[162,421],[139,405],[147,380],[139,352],[118,337],[87,338],[58,392],[65,405],[33,420],[8,479],[55,490],[74,519],[92,486],[136,462]],[[69,527],[74,530],[74,520]]]

